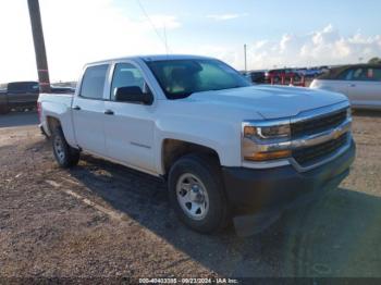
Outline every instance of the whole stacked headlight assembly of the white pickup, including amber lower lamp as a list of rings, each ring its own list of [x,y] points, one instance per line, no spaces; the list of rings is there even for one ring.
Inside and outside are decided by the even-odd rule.
[[[246,161],[270,161],[291,157],[291,150],[263,151],[261,146],[267,142],[280,142],[291,137],[290,124],[259,126],[244,123],[242,156]]]

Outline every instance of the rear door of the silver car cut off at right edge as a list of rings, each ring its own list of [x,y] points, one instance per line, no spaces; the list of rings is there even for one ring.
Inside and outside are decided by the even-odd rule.
[[[348,97],[357,107],[381,107],[381,67],[354,69]]]

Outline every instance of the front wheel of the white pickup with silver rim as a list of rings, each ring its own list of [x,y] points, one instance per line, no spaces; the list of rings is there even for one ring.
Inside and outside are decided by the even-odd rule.
[[[196,232],[226,227],[229,207],[216,159],[188,154],[177,160],[169,174],[169,196],[180,220]]]

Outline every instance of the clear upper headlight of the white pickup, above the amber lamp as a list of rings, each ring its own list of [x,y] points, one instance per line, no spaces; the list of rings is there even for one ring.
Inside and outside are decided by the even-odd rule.
[[[274,139],[284,138],[291,136],[290,124],[278,126],[245,126],[244,137],[253,139],[255,137],[259,139]]]

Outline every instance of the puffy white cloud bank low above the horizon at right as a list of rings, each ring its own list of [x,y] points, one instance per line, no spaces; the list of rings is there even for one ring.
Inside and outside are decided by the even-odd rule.
[[[243,47],[211,48],[205,54],[216,55],[236,69],[244,67]],[[381,57],[381,35],[365,36],[357,32],[343,36],[332,25],[307,35],[284,34],[278,40],[257,40],[247,46],[249,69],[274,66],[312,66],[357,63]]]

